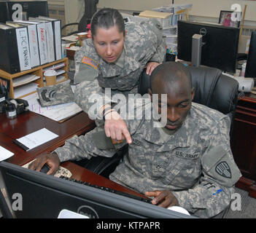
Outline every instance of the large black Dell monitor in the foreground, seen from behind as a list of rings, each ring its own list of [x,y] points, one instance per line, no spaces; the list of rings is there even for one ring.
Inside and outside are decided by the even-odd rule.
[[[10,210],[16,218],[57,218],[63,209],[90,218],[193,218],[8,162],[0,163],[0,171],[9,206],[17,208],[17,197],[22,197],[22,210]]]

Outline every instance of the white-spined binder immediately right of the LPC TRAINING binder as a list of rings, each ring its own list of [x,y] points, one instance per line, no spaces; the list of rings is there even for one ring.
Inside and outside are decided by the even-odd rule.
[[[14,23],[18,23],[19,25],[23,25],[28,28],[28,42],[31,58],[31,67],[34,68],[36,66],[40,66],[39,45],[36,25],[27,23],[26,20],[16,20],[14,21]]]

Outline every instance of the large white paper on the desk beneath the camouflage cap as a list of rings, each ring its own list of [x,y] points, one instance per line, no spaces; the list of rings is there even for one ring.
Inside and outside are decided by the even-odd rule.
[[[34,111],[36,114],[40,114],[42,116],[46,116],[50,119],[53,119],[57,122],[66,119],[70,116],[74,116],[74,114],[82,111],[77,103],[63,103],[55,106],[42,107],[38,103],[38,94],[37,92],[31,95],[28,95],[23,98],[28,101],[28,109],[30,111]]]

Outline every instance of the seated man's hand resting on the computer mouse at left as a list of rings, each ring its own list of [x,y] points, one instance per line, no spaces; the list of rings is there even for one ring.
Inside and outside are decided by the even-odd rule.
[[[48,170],[47,175],[54,175],[58,170],[61,161],[58,158],[58,154],[56,153],[41,154],[38,157],[36,157],[36,160],[34,162],[31,162],[28,168],[31,170],[40,171],[45,163],[47,163],[47,165],[50,167],[50,170]]]

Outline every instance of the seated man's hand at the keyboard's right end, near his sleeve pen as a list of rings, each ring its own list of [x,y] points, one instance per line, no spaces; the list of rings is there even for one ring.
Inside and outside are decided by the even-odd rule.
[[[158,205],[163,208],[168,208],[173,205],[179,205],[179,201],[174,196],[174,194],[171,193],[170,190],[156,190],[156,191],[146,191],[144,193],[147,197],[155,197],[152,200],[153,205]]]

